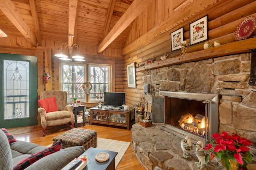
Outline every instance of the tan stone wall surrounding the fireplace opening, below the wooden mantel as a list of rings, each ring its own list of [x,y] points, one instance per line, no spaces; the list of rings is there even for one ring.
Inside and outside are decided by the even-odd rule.
[[[154,118],[152,96],[164,96],[162,91],[216,94],[220,100],[218,132],[238,133],[256,143],[256,86],[248,84],[251,57],[243,53],[144,72],[144,82],[151,85],[145,111]]]

